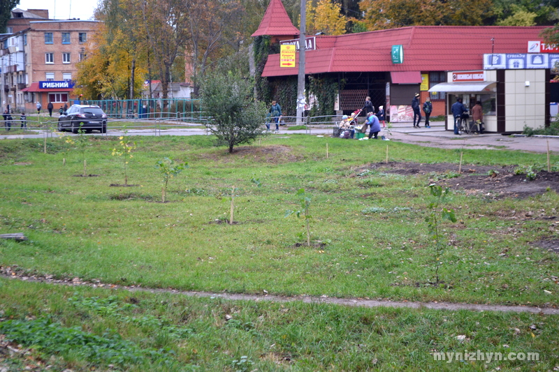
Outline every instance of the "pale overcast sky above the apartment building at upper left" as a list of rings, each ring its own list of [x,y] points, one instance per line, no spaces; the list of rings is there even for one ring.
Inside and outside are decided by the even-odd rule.
[[[93,11],[97,7],[97,0],[20,0],[16,8],[48,9],[50,19],[67,20],[80,18],[80,20],[93,19]]]

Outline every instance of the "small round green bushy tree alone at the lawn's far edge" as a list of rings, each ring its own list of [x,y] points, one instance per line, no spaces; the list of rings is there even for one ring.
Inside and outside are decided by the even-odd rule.
[[[238,73],[212,74],[202,84],[201,96],[210,117],[206,125],[231,154],[238,144],[251,143],[264,135],[266,105],[252,97],[254,82]]]

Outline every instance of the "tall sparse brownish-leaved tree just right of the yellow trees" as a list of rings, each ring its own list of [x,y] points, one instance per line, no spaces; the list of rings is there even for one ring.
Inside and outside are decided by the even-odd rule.
[[[184,45],[191,39],[189,8],[184,0],[140,0],[140,9],[154,68],[161,77],[166,107],[173,63],[184,53]]]

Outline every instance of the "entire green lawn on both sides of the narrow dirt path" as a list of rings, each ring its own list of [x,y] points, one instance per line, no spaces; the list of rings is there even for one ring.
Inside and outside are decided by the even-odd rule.
[[[131,187],[110,186],[124,184],[124,158],[111,156],[119,147],[117,137],[87,137],[85,158],[92,177],[77,177],[83,173],[82,153],[64,138],[48,139],[48,154],[43,154],[42,139],[0,142],[0,233],[29,237],[21,243],[0,241],[0,265],[55,278],[180,290],[539,306],[559,302],[558,254],[533,244],[558,239],[559,197],[553,191],[513,199],[453,190],[441,207],[455,209],[458,221],[440,225],[445,249],[441,282],[433,284],[437,257],[425,222],[432,200],[428,185],[457,174],[370,170],[371,163],[386,158],[382,141],[275,136],[229,155],[212,147],[210,136],[131,140],[138,142],[127,165],[128,182],[137,185]],[[189,168],[170,180],[162,203],[162,177],[154,165],[164,157],[187,162]],[[389,158],[458,163],[460,151],[393,141]],[[545,154],[501,150],[465,149],[463,158],[468,168],[546,161]],[[553,155],[551,162],[557,165],[559,157]],[[235,223],[230,225],[232,188]],[[284,217],[286,210],[300,207],[300,188],[312,195],[310,247],[303,219]],[[534,218],[503,217],[513,210],[516,216]],[[39,322],[48,318],[62,336],[77,325],[97,336],[112,329],[130,343],[108,336],[108,341],[94,342],[128,350],[132,359],[136,355],[138,367],[131,370],[161,363],[161,369],[179,369],[173,362],[178,360],[186,370],[200,366],[207,371],[482,371],[484,362],[434,362],[429,352],[503,348],[535,350],[546,359],[488,366],[546,371],[559,365],[553,316],[228,303],[164,294],[134,294],[132,300],[130,294],[115,293],[115,305],[108,306],[88,300],[108,297],[103,290],[78,289],[76,297],[75,289],[1,283],[3,318],[37,318],[22,327],[38,330],[51,327]],[[226,322],[226,314],[235,322]],[[131,318],[143,315],[147,320]],[[4,327],[0,333],[6,332]],[[469,341],[460,343],[460,335]],[[103,357],[60,352],[66,355],[60,363],[78,370],[104,365]],[[233,360],[242,356],[254,364],[238,362],[233,368]]]

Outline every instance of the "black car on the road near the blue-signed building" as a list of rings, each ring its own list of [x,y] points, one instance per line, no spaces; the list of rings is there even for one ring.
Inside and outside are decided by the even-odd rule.
[[[82,128],[85,133],[96,130],[107,133],[107,115],[97,105],[71,105],[58,118],[58,131],[78,133]]]

